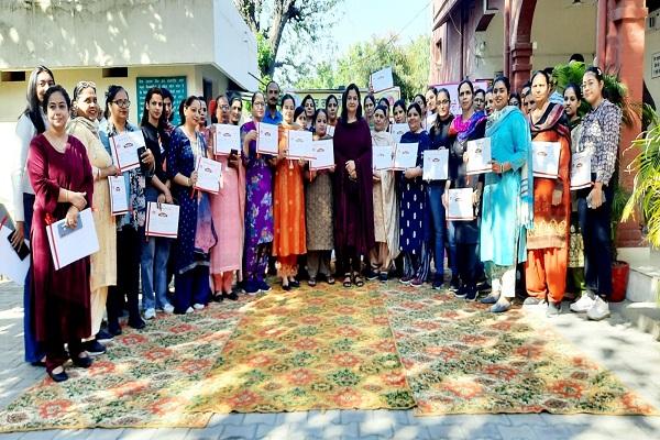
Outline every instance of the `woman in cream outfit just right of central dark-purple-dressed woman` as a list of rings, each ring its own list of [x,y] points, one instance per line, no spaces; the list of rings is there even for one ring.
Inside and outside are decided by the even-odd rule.
[[[387,108],[374,110],[373,145],[388,145],[394,151],[394,140],[387,132]],[[369,253],[370,273],[384,283],[389,265],[398,255],[399,229],[396,179],[392,169],[374,169],[374,239],[376,245]],[[369,276],[369,275],[367,275]]]

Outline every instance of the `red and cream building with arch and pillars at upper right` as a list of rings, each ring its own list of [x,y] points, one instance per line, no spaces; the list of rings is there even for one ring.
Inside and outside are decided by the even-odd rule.
[[[646,82],[660,102],[660,22],[646,21],[658,9],[660,1],[645,0],[433,0],[429,82],[505,74],[520,90],[532,70],[579,53],[587,64],[618,73],[632,101],[641,102]],[[619,180],[626,188],[632,187],[627,166],[637,154],[629,145],[640,131],[636,121],[622,132]],[[619,245],[639,245],[640,237],[638,224],[619,226]]]

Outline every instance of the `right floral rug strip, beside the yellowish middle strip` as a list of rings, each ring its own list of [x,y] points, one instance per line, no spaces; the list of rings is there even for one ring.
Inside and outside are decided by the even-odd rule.
[[[485,305],[413,287],[384,294],[417,415],[657,414],[539,314],[495,315]]]

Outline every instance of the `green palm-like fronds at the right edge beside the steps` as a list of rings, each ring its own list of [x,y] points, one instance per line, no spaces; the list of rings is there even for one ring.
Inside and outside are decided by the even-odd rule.
[[[640,148],[635,158],[635,188],[623,211],[623,219],[634,218],[636,211],[646,222],[647,240],[660,248],[660,127],[654,127],[632,141]]]

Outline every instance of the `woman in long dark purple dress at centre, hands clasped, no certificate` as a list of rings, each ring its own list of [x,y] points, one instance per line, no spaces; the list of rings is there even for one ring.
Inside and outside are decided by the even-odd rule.
[[[362,118],[360,90],[351,84],[343,94],[341,120],[334,129],[334,250],[337,273],[344,287],[362,286],[360,257],[375,245],[372,182],[372,140]]]

